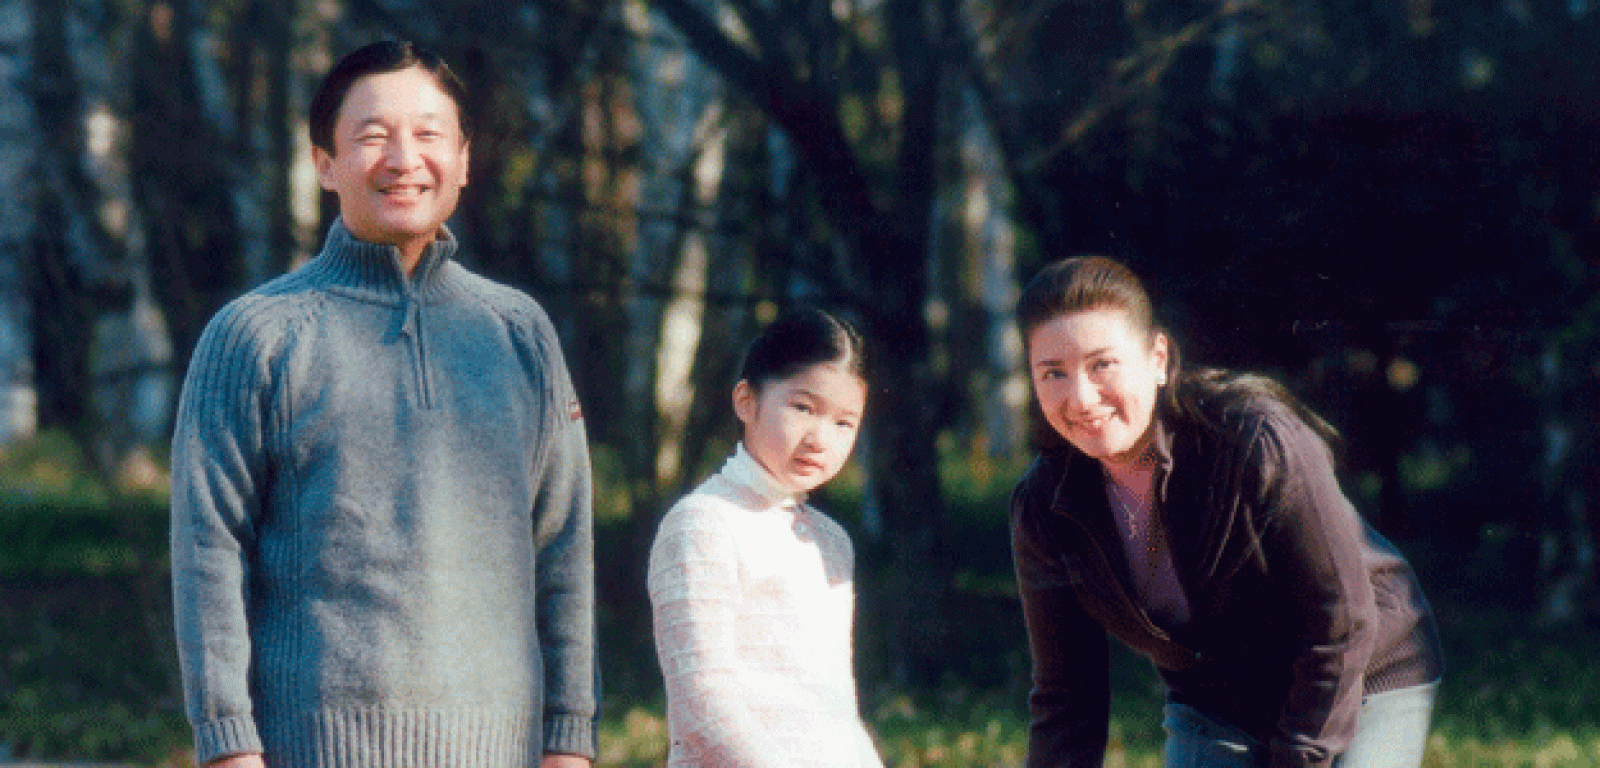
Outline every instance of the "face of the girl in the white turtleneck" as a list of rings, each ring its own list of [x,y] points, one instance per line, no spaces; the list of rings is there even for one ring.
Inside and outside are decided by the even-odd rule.
[[[834,363],[771,379],[760,390],[746,381],[733,387],[744,448],[794,493],[814,490],[845,466],[866,402],[867,384]]]

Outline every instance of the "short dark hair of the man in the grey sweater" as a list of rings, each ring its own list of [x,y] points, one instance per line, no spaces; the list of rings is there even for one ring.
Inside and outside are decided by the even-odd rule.
[[[411,67],[422,67],[438,80],[438,88],[445,91],[445,96],[450,96],[450,101],[456,102],[456,117],[461,120],[462,141],[470,141],[472,115],[467,110],[467,88],[450,70],[450,64],[445,64],[445,59],[437,53],[410,40],[379,40],[344,54],[322,78],[322,86],[317,88],[317,94],[310,99],[310,114],[306,115],[307,123],[310,123],[312,146],[330,155],[336,154],[333,128],[339,120],[339,107],[344,106],[344,96],[350,93],[350,86],[357,80],[366,75],[400,72]]]

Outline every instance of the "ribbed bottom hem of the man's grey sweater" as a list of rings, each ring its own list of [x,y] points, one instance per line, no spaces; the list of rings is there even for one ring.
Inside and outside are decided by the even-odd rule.
[[[322,709],[262,731],[274,766],[499,768],[539,758],[539,725],[526,710]]]

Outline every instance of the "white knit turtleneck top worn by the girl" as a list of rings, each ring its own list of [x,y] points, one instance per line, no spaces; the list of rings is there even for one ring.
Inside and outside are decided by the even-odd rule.
[[[854,554],[741,445],[650,550],[669,766],[882,766],[851,670]]]

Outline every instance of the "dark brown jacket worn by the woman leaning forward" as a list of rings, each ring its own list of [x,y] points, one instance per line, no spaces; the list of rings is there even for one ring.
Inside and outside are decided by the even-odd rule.
[[[1427,602],[1344,498],[1326,443],[1266,398],[1218,424],[1157,421],[1155,515],[1190,606],[1179,626],[1157,626],[1133,597],[1094,459],[1048,450],[1018,483],[1029,766],[1101,765],[1107,634],[1155,664],[1173,701],[1261,739],[1272,765],[1331,763],[1363,694],[1438,678]]]

